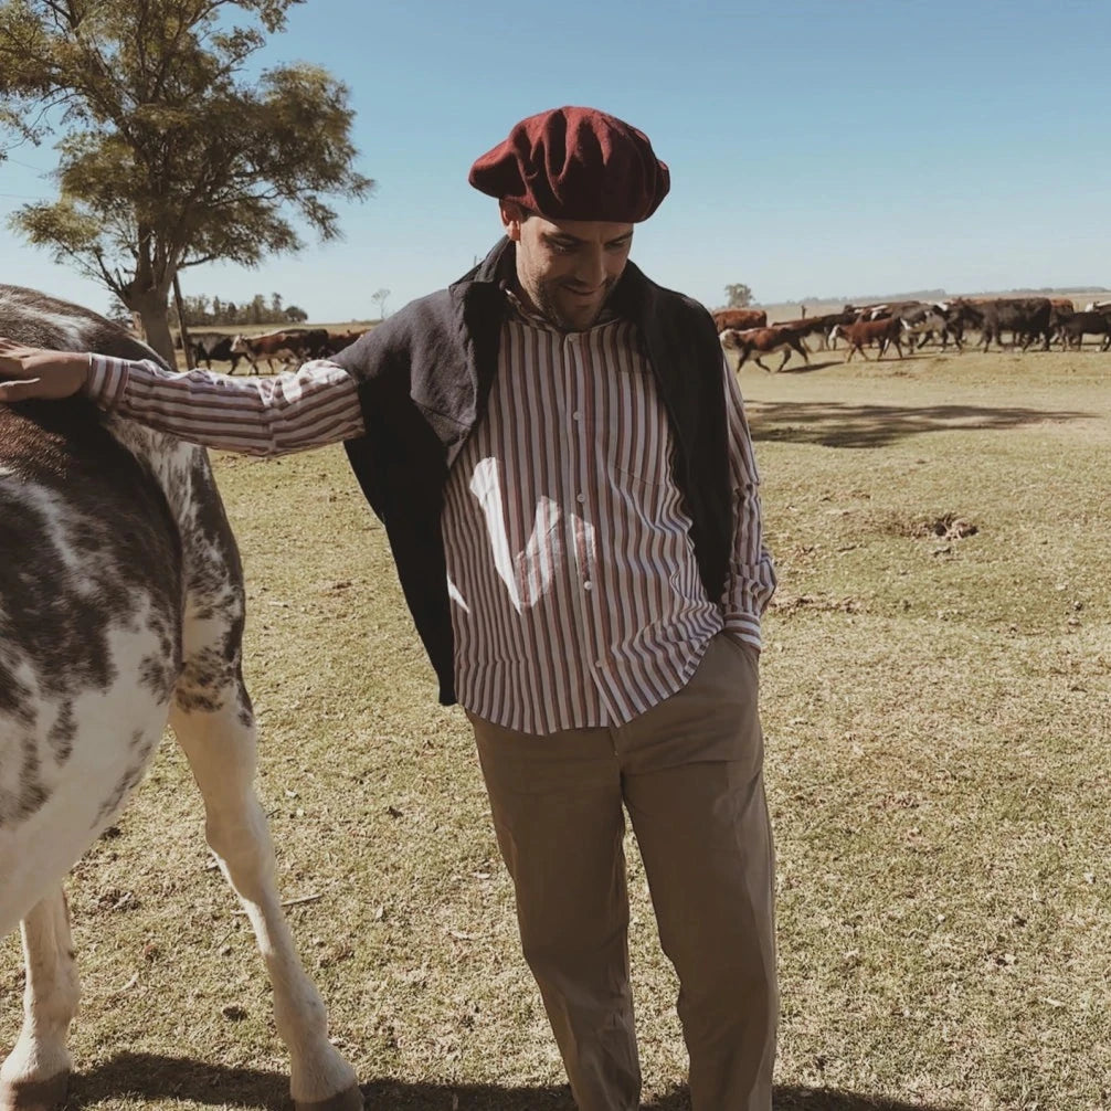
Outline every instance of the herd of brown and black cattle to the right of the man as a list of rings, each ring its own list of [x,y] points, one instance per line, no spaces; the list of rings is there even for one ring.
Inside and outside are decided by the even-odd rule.
[[[807,337],[814,337],[822,350],[847,346],[845,362],[858,351],[868,358],[865,348],[878,347],[882,359],[893,347],[903,357],[903,346],[918,350],[935,343],[942,350],[952,343],[964,349],[970,332],[978,334],[977,347],[987,351],[994,342],[1000,348],[1004,334],[1012,347],[1025,351],[1033,343],[1050,350],[1059,343],[1063,350],[1080,350],[1085,336],[1099,337],[1100,350],[1111,347],[1111,301],[1093,301],[1082,310],[1068,298],[1059,297],[969,297],[949,301],[892,301],[885,304],[847,304],[840,312],[803,317],[769,324],[763,309],[720,309],[713,313],[721,344],[738,353],[738,369],[752,359],[763,370],[762,356],[781,352],[782,370],[794,351],[810,361]]]

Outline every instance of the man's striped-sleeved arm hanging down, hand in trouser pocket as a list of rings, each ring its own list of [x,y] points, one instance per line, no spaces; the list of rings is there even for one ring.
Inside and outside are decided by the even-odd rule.
[[[775,565],[763,544],[760,473],[744,401],[737,376],[725,360],[725,413],[729,420],[729,469],[733,488],[733,548],[722,608],[725,631],[757,650],[760,618],[775,592]]]

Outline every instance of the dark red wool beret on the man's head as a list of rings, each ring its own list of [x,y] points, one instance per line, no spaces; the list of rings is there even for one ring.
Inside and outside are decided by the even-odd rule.
[[[671,176],[648,137],[593,108],[553,108],[521,120],[468,178],[480,192],[549,220],[647,220]]]

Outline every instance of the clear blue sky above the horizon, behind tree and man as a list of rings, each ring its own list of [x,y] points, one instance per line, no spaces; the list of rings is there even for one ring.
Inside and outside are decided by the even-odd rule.
[[[708,306],[943,288],[1111,286],[1105,0],[308,0],[258,58],[351,91],[344,238],[186,292],[280,292],[316,320],[377,316],[457,278],[500,233],[467,172],[524,116],[592,104],[652,140],[672,190],[632,258]],[[7,229],[52,196],[49,146],[0,166],[3,280],[108,293]]]

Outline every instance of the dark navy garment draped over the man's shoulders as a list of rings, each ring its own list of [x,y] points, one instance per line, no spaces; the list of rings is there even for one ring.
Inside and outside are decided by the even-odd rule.
[[[386,526],[398,577],[440,680],[456,701],[448,572],[440,531],[443,486],[486,411],[507,312],[502,280],[516,269],[502,239],[446,290],[407,304],[336,362],[359,382],[366,434],[351,467]],[[631,262],[609,301],[642,338],[674,439],[674,478],[691,516],[707,597],[719,600],[732,546],[722,352],[709,312],[657,286]]]

